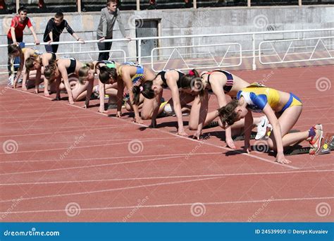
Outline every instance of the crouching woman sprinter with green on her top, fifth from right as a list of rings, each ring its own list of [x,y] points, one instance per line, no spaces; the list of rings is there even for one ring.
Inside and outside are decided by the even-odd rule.
[[[82,85],[85,85],[86,81],[94,81],[94,75],[99,75],[99,68],[116,68],[115,61],[93,61],[91,63],[86,63],[79,69],[79,81]],[[112,85],[104,85],[99,80],[99,85],[94,86],[94,93],[99,96],[100,106],[99,112],[108,113],[108,111],[104,110],[104,94],[109,95],[108,104],[115,104],[117,101],[117,83],[113,83]]]

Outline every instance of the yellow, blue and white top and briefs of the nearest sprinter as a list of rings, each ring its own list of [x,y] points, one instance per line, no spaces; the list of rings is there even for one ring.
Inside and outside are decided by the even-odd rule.
[[[272,109],[277,109],[277,106],[280,105],[279,92],[276,89],[266,87],[259,83],[253,83],[252,85],[241,89],[237,92],[237,99],[240,99],[240,97],[244,97],[248,104],[247,108],[254,112],[262,112],[266,104],[271,106]],[[283,111],[290,106],[302,106],[302,101],[292,93],[290,93],[290,98],[283,106],[283,109],[278,113],[283,113]]]

